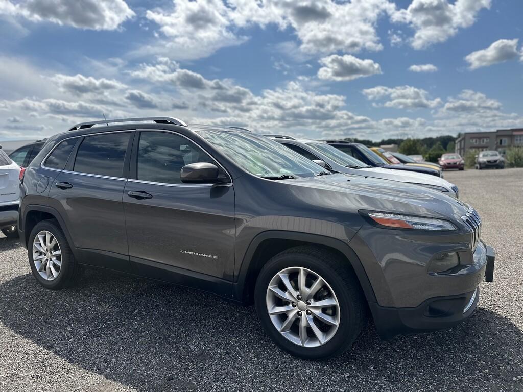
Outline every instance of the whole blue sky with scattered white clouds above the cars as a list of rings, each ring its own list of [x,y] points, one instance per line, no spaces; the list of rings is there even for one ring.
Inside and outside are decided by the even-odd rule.
[[[519,0],[0,0],[0,138],[168,115],[314,139],[523,127]]]

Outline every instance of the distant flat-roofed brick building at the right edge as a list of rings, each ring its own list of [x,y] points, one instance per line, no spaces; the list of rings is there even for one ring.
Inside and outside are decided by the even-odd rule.
[[[467,132],[456,140],[456,152],[461,156],[465,156],[470,149],[475,152],[497,150],[505,155],[510,147],[523,147],[523,128]]]

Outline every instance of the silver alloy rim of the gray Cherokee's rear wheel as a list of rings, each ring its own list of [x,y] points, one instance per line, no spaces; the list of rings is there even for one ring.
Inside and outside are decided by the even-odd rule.
[[[36,270],[47,281],[55,280],[62,268],[62,251],[58,240],[47,230],[39,232],[32,246]]]

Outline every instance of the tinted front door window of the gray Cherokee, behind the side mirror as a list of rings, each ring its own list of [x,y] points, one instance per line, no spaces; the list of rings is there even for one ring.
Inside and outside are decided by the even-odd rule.
[[[139,180],[181,184],[181,168],[197,162],[215,163],[200,147],[183,136],[167,132],[140,134],[137,162]]]

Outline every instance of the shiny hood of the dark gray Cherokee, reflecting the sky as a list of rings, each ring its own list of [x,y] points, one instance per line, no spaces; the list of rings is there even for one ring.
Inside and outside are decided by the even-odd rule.
[[[310,203],[343,211],[372,210],[430,216],[460,221],[467,213],[464,203],[439,191],[405,182],[332,174],[280,180],[296,187],[289,189]]]

